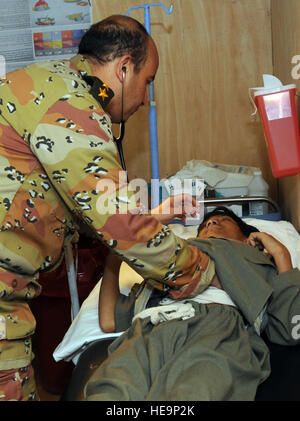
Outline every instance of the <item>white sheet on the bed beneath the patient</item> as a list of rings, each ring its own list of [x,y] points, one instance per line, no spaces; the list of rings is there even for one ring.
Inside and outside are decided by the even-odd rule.
[[[273,235],[274,238],[283,243],[289,250],[294,267],[300,269],[300,235],[290,222],[287,221],[265,221],[254,218],[246,218],[244,221],[257,227],[260,231]],[[185,227],[180,224],[170,226],[181,238],[193,238],[197,235],[197,227]],[[141,282],[142,277],[131,269],[126,263],[122,263],[120,272],[120,289],[128,293],[134,283]],[[113,338],[120,333],[104,333],[101,331],[98,322],[98,298],[101,280],[84,301],[80,312],[74,319],[62,342],[53,353],[56,361],[72,359],[77,364],[78,358],[84,348],[92,341],[100,338]]]

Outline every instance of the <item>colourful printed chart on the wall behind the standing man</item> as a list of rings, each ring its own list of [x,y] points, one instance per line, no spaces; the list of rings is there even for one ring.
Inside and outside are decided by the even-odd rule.
[[[0,8],[0,77],[35,61],[76,54],[93,21],[89,0],[0,0]]]

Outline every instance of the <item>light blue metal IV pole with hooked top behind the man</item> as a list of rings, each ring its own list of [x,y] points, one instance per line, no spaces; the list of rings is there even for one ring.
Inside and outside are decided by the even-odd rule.
[[[128,9],[126,16],[129,16],[134,9],[144,9],[145,28],[151,36],[151,23],[150,23],[150,7],[161,6],[165,12],[170,15],[173,12],[173,6],[167,9],[163,3],[147,3],[140,6],[134,6]],[[151,148],[151,207],[155,208],[159,205],[159,159],[158,159],[158,141],[157,141],[157,116],[156,116],[156,103],[154,99],[154,82],[149,85],[149,127],[150,127],[150,148]]]

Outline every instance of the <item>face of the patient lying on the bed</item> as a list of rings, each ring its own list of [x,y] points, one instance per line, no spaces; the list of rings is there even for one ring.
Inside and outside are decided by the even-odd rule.
[[[198,238],[228,238],[230,240],[245,241],[238,224],[230,216],[215,215],[209,218],[204,228],[199,232]]]

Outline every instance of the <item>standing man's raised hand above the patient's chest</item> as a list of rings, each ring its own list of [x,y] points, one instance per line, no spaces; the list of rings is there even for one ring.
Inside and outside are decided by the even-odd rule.
[[[158,219],[162,224],[167,224],[174,218],[180,218],[183,221],[186,215],[196,217],[200,207],[195,197],[190,194],[178,194],[169,196],[159,206],[151,210],[151,215]]]

